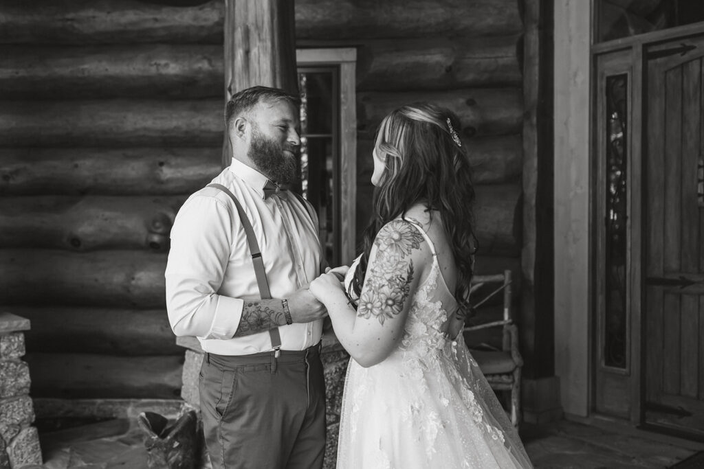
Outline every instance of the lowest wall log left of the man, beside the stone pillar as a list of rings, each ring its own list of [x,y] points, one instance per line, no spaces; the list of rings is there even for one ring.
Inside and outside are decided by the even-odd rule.
[[[32,397],[172,399],[181,393],[183,355],[27,354]]]

